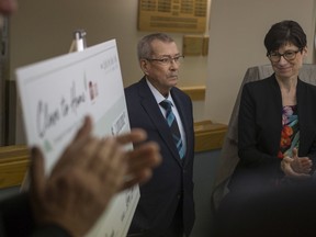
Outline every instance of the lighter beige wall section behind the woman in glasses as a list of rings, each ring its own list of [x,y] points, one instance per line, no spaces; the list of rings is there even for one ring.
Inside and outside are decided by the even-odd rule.
[[[246,69],[269,64],[263,38],[273,23],[295,20],[314,54],[315,0],[213,0],[205,117],[228,123]]]

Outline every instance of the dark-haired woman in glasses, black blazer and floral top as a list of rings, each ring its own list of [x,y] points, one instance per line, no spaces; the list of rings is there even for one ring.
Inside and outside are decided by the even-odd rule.
[[[238,115],[240,158],[229,190],[256,192],[308,180],[316,165],[316,87],[298,72],[306,35],[294,21],[271,26],[264,38],[274,74],[246,83]]]

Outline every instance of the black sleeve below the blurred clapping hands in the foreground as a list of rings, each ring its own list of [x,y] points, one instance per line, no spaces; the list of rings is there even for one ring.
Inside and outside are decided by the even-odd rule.
[[[70,237],[61,227],[47,224],[36,226],[26,193],[0,202],[1,237]]]

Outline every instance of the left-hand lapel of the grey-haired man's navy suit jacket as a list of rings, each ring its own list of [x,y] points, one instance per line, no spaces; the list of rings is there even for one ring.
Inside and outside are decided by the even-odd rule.
[[[173,145],[173,138],[170,133],[170,128],[159,109],[159,105],[157,104],[157,101],[151,93],[146,79],[143,78],[139,81],[139,95],[142,98],[142,106],[147,112],[148,116],[150,117],[153,124],[157,127],[160,136],[162,137],[162,140],[166,143],[166,145],[171,150],[171,154],[173,155],[174,159],[179,161],[181,165],[181,160],[177,150],[177,147]]]

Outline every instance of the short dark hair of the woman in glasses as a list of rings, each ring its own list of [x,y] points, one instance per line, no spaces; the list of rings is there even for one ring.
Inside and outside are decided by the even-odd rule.
[[[291,43],[300,49],[307,45],[306,34],[295,21],[282,21],[271,26],[264,37],[267,54],[278,50],[282,45]]]

